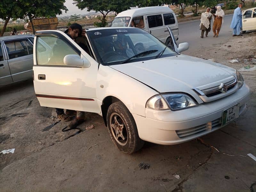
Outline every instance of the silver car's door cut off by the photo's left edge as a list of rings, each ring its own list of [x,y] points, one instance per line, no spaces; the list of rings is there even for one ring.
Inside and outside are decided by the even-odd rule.
[[[0,86],[12,83],[12,76],[7,60],[3,52],[3,44],[0,42]]]

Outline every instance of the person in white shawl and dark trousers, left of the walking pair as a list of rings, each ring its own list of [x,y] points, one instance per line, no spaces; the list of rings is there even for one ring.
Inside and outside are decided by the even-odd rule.
[[[204,31],[205,31],[205,37],[208,36],[208,33],[211,31],[211,19],[212,19],[212,13],[210,12],[210,8],[208,7],[206,9],[206,12],[201,14],[201,23],[200,23],[200,30],[201,31],[201,38],[204,38]]]

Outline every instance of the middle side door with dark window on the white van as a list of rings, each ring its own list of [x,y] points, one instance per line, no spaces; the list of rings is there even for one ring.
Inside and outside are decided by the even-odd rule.
[[[163,43],[165,43],[166,38],[164,35],[164,31],[166,30],[166,27],[163,24],[162,14],[158,13],[146,16],[148,21],[148,32],[158,38]]]

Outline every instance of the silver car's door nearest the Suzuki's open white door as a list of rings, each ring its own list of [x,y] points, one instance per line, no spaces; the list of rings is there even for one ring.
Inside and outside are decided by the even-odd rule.
[[[33,76],[33,45],[27,38],[4,41],[13,82]]]

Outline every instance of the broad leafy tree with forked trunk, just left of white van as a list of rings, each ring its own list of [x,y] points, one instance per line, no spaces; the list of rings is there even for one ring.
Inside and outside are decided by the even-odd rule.
[[[109,12],[122,12],[124,10],[130,9],[133,6],[132,0],[74,0],[74,3],[79,9],[87,9],[87,11],[94,10],[102,14],[100,18],[102,27],[106,25],[106,16]],[[101,25],[100,24],[100,25]]]

